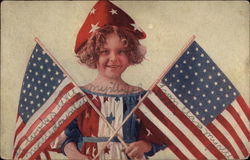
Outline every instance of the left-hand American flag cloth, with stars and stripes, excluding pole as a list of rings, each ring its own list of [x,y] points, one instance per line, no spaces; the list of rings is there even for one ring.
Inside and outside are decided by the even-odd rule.
[[[50,143],[88,104],[85,96],[46,51],[36,44],[23,79],[14,159],[47,158]]]

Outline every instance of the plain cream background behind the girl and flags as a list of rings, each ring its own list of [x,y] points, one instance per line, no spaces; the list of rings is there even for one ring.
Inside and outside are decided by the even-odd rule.
[[[96,1],[1,3],[1,157],[10,159],[23,75],[38,37],[79,85],[96,71],[77,63],[76,34]],[[146,60],[124,79],[144,89],[178,56],[192,35],[249,104],[248,2],[114,1],[147,33]],[[54,158],[64,158],[54,155]],[[162,151],[152,159],[174,158]]]

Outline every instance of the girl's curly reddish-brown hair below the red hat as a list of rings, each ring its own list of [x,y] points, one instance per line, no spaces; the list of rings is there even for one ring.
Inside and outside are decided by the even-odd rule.
[[[106,37],[111,33],[117,34],[124,44],[125,54],[130,64],[140,64],[143,61],[146,49],[133,33],[121,27],[106,25],[97,29],[76,53],[80,63],[86,64],[90,68],[96,68],[100,49],[105,45]]]

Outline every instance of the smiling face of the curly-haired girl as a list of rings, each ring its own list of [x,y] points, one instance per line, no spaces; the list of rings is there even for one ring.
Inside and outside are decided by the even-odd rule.
[[[100,49],[97,70],[108,79],[119,79],[129,66],[126,50],[118,35],[107,35],[106,43]]]

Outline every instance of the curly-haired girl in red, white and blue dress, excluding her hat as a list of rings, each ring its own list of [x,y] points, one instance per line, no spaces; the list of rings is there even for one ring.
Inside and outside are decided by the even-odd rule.
[[[114,8],[112,3],[105,3]],[[139,43],[138,34],[127,27],[107,23],[97,27],[76,51],[81,63],[98,71],[96,79],[82,86],[82,91],[111,126],[118,128],[146,93],[142,88],[132,86],[121,78],[127,67],[140,64],[144,59],[145,49]],[[61,150],[69,159],[91,159],[103,148],[112,130],[89,106],[79,113],[64,133],[67,139],[63,142]],[[123,125],[118,134],[128,144],[128,148],[124,149],[115,137],[99,159],[142,159],[165,148],[149,141],[146,128],[135,114]]]

